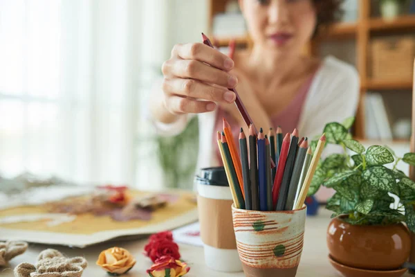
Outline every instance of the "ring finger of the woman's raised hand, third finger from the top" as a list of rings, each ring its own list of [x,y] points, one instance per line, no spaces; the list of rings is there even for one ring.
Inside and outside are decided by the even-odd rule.
[[[165,79],[163,81],[163,91],[170,95],[178,95],[214,102],[234,102],[236,95],[234,92],[221,87],[212,87],[209,84],[192,79]]]

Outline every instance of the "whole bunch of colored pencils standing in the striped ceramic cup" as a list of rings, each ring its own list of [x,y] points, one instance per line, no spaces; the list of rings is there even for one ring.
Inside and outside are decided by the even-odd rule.
[[[291,211],[304,204],[326,137],[322,135],[312,154],[308,139],[299,139],[297,129],[283,139],[279,127],[276,133],[270,129],[267,136],[262,128],[257,134],[251,124],[248,140],[241,128],[238,154],[230,125],[223,119],[217,140],[237,208]]]

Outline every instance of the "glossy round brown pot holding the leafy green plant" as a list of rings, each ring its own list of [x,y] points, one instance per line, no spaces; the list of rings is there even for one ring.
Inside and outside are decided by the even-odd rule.
[[[359,269],[397,269],[407,261],[411,238],[400,223],[388,226],[352,225],[335,217],[327,229],[331,258]]]

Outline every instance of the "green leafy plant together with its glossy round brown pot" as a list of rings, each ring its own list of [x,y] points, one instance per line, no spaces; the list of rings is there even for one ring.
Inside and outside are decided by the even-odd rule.
[[[308,194],[320,185],[335,190],[326,206],[333,211],[327,230],[332,260],[357,269],[398,269],[409,257],[408,229],[415,231],[415,183],[396,166],[415,165],[415,153],[396,157],[387,146],[365,149],[348,132],[353,120],[324,127],[326,145],[344,151],[320,160]]]

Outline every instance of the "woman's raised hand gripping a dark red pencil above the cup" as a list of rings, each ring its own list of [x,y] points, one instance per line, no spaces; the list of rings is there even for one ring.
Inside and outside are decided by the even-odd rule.
[[[205,44],[177,44],[162,67],[164,104],[174,114],[216,109],[215,102],[232,103],[238,80],[230,74],[234,62]]]

